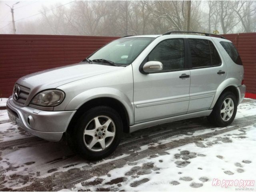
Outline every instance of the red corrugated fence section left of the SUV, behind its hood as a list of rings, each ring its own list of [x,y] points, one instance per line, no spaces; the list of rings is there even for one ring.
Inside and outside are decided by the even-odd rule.
[[[80,62],[117,37],[0,34],[0,98],[12,94],[18,78]]]

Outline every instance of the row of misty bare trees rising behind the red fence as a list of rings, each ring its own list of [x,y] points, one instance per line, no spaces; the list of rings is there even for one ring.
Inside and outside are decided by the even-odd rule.
[[[43,7],[35,21],[16,23],[18,34],[125,36],[186,30],[185,1],[76,1]],[[208,6],[209,9],[206,9]],[[192,1],[190,30],[255,32],[256,1]],[[10,25],[11,26],[11,25]],[[10,28],[2,33],[11,33]]]

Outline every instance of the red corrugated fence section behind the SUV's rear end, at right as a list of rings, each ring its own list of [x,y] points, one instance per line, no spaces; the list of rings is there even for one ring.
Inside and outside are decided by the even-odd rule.
[[[256,33],[223,35],[238,49],[244,65],[246,92],[256,94]]]

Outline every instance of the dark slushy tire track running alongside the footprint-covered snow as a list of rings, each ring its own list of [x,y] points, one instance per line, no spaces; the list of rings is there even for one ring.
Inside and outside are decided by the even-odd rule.
[[[128,162],[134,162],[136,160],[140,160],[152,154],[159,154],[161,152],[170,150],[172,148],[177,148],[189,143],[201,141],[203,139],[210,138],[212,136],[216,136],[219,134],[223,134],[225,132],[240,129],[248,125],[252,125],[255,123],[255,118],[256,118],[256,115],[240,118],[238,120],[234,120],[232,124],[233,126],[230,128],[224,128],[221,130],[216,130],[214,132],[201,134],[198,136],[190,136],[190,137],[182,138],[180,140],[171,141],[166,144],[160,144],[155,148],[147,149],[139,153],[124,151],[124,149],[121,146],[118,148],[117,152],[114,155],[116,156],[118,154],[120,155],[122,153],[127,152],[127,153],[130,153],[129,156],[126,156],[124,158],[120,158],[117,160],[112,160],[110,162],[108,160],[94,162],[93,164],[90,164],[90,166],[85,166],[82,168],[73,168],[66,172],[56,172],[46,178],[35,178],[32,184],[30,184],[30,186],[19,188],[18,190],[20,191],[28,191],[28,190],[58,191],[64,188],[70,189],[74,187],[75,184],[80,183],[84,180],[88,180],[93,176],[106,175],[110,170],[114,168],[123,167]],[[130,145],[127,146],[128,149],[129,147]]]

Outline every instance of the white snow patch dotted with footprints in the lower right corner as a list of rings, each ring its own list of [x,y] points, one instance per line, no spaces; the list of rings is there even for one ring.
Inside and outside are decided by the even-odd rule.
[[[256,124],[206,139],[202,146],[187,144],[143,158],[80,182],[72,190],[234,191],[239,186],[213,186],[214,181],[254,180],[255,144]],[[254,183],[246,187],[256,189]]]

